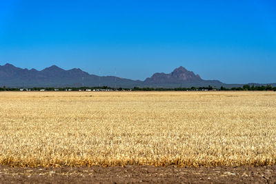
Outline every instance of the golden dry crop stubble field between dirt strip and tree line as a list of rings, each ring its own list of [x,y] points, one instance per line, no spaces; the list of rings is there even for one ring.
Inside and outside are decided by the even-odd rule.
[[[275,92],[1,92],[0,164],[272,165]]]

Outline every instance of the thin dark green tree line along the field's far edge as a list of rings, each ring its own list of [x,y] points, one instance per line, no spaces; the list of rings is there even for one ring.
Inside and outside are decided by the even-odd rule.
[[[23,88],[6,88],[3,86],[3,88],[0,88],[0,91],[19,91]],[[255,86],[255,85],[244,85],[242,88],[224,88],[224,86],[221,86],[221,88],[215,88],[212,86],[208,87],[192,87],[192,88],[110,88],[108,86],[102,86],[102,87],[80,87],[80,88],[28,88],[28,90],[31,91],[39,91],[39,90],[46,90],[46,91],[85,91],[85,90],[117,90],[117,91],[210,91],[210,90],[220,90],[220,91],[276,91],[276,87],[272,87],[271,85],[262,85],[262,86]],[[26,89],[23,89],[26,90]]]

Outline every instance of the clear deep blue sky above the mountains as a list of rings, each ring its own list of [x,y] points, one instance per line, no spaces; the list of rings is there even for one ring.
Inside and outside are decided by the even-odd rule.
[[[0,1],[0,65],[276,82],[276,1]]]

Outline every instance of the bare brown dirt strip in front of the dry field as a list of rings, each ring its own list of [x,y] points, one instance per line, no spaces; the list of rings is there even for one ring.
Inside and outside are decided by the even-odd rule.
[[[265,167],[23,167],[0,166],[0,183],[276,183]]]

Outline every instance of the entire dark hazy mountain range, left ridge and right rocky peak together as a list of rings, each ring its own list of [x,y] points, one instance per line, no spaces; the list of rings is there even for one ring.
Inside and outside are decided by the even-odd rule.
[[[43,70],[17,68],[10,63],[0,65],[0,86],[5,85],[7,88],[33,88],[33,87],[81,87],[81,86],[109,86],[115,88],[190,88],[224,85],[242,86],[241,84],[230,85],[217,80],[204,80],[198,74],[179,67],[170,72],[155,73],[146,78],[144,81],[135,81],[124,79],[117,76],[97,76],[88,74],[79,68],[63,70],[52,65]]]

